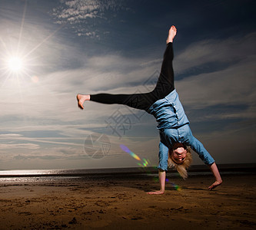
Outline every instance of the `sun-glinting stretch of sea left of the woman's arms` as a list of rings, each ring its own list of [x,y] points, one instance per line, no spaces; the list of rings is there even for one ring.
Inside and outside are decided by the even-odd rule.
[[[0,184],[7,182],[75,182],[79,180],[131,179],[158,176],[155,167],[112,169],[0,170]]]

